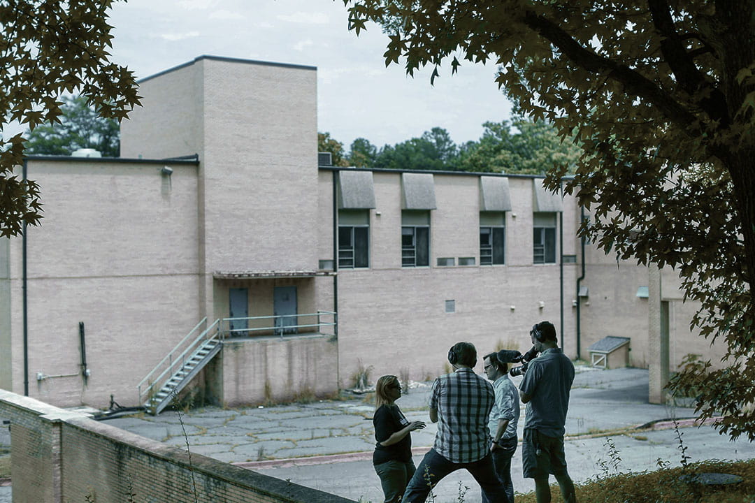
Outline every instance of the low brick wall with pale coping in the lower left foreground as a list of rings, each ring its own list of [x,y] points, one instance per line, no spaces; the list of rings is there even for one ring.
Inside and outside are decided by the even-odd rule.
[[[0,390],[14,501],[347,503]],[[195,498],[196,496],[196,498]]]

